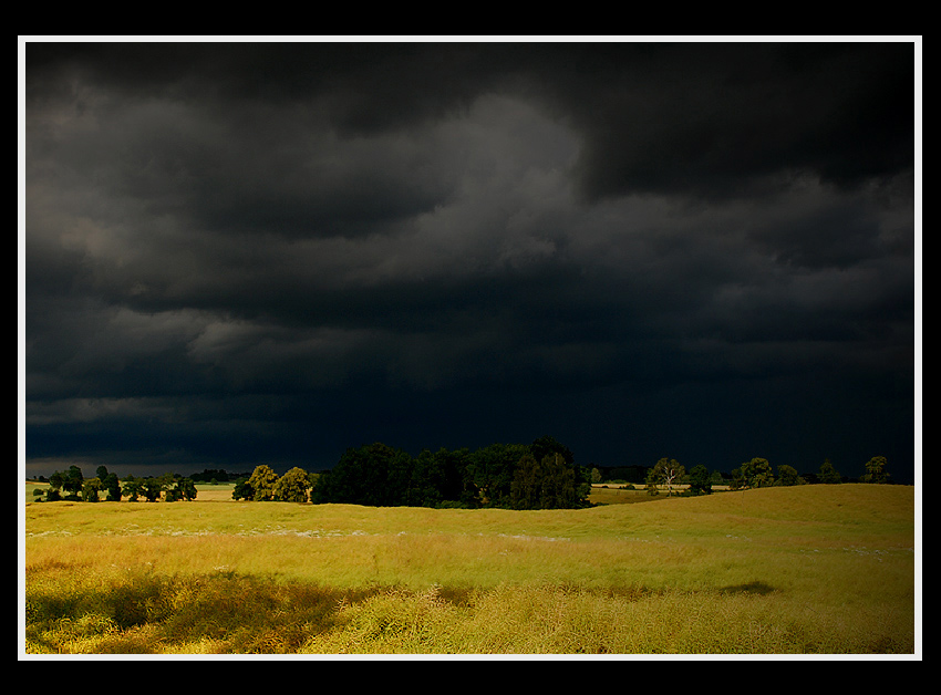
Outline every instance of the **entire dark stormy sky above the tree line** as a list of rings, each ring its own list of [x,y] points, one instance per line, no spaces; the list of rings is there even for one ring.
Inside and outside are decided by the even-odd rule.
[[[25,470],[551,435],[911,483],[917,48],[25,42]]]

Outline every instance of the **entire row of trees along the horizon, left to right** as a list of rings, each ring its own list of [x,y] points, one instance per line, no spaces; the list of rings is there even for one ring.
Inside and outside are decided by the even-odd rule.
[[[860,483],[889,483],[885,456],[866,464]],[[105,466],[99,466],[93,478],[84,478],[81,468],[70,466],[49,478],[46,490],[37,489],[37,498],[48,501],[76,500],[188,501],[197,497],[195,481],[230,481],[235,479],[232,499],[248,501],[293,501],[313,504],[350,504],[372,507],[505,508],[505,509],[578,509],[590,506],[592,483],[606,476],[598,467],[583,468],[563,444],[542,436],[530,444],[493,444],[437,452],[423,449],[417,456],[382,443],[348,448],[330,470],[308,473],[294,467],[279,476],[270,466],[256,466],[251,474],[232,475],[225,470],[204,470],[184,477],[178,474],[118,479]],[[674,489],[682,495],[709,495],[716,483],[730,489],[767,486],[838,484],[846,480],[825,459],[817,474],[798,475],[793,466],[779,465],[777,475],[765,458],[752,458],[734,468],[726,478],[697,465],[686,471],[673,458],[661,458],[653,466],[606,469],[614,475],[628,473],[643,484],[649,494]],[[208,480],[207,480],[208,479]],[[684,489],[680,491],[680,486]]]

